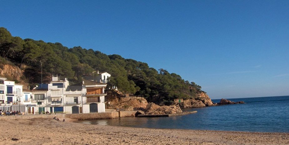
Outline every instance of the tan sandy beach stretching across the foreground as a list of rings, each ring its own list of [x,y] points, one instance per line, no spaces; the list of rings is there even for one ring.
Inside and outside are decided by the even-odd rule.
[[[62,118],[60,118],[62,119]],[[67,119],[68,120],[68,119]],[[0,120],[0,145],[286,145],[289,133],[147,129],[99,126],[45,118]],[[13,141],[12,138],[19,140]]]

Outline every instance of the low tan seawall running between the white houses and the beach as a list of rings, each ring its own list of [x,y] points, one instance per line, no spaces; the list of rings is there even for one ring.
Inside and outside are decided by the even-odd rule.
[[[120,111],[120,112],[105,112],[105,113],[82,113],[82,114],[41,114],[41,115],[16,115],[16,116],[0,116],[0,120],[7,119],[32,119],[32,118],[53,118],[56,116],[59,119],[70,118],[77,120],[94,120],[94,119],[114,119],[123,117],[135,117],[137,111]],[[61,120],[62,121],[62,120]]]

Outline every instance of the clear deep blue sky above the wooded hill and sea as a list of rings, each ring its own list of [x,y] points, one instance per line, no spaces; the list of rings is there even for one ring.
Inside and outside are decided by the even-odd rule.
[[[289,95],[289,1],[4,1],[12,36],[118,54],[212,99]]]

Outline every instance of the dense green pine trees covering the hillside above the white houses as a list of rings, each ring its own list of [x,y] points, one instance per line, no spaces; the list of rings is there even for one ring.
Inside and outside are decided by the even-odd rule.
[[[112,75],[107,88],[115,85],[126,94],[143,95],[148,102],[172,104],[173,99],[192,99],[202,92],[201,86],[185,81],[167,70],[157,71],[147,63],[124,59],[120,55],[106,55],[80,46],[67,48],[61,43],[14,37],[6,28],[0,28],[0,61],[12,62],[23,71],[23,80],[30,85],[48,83],[51,75],[67,77],[77,84],[85,75],[99,70]]]

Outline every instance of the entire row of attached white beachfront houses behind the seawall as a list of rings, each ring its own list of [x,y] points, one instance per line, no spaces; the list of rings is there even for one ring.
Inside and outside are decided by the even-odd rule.
[[[83,80],[82,85],[70,86],[67,78],[54,75],[49,84],[39,84],[30,91],[0,77],[0,109],[25,114],[105,112],[106,85]]]

